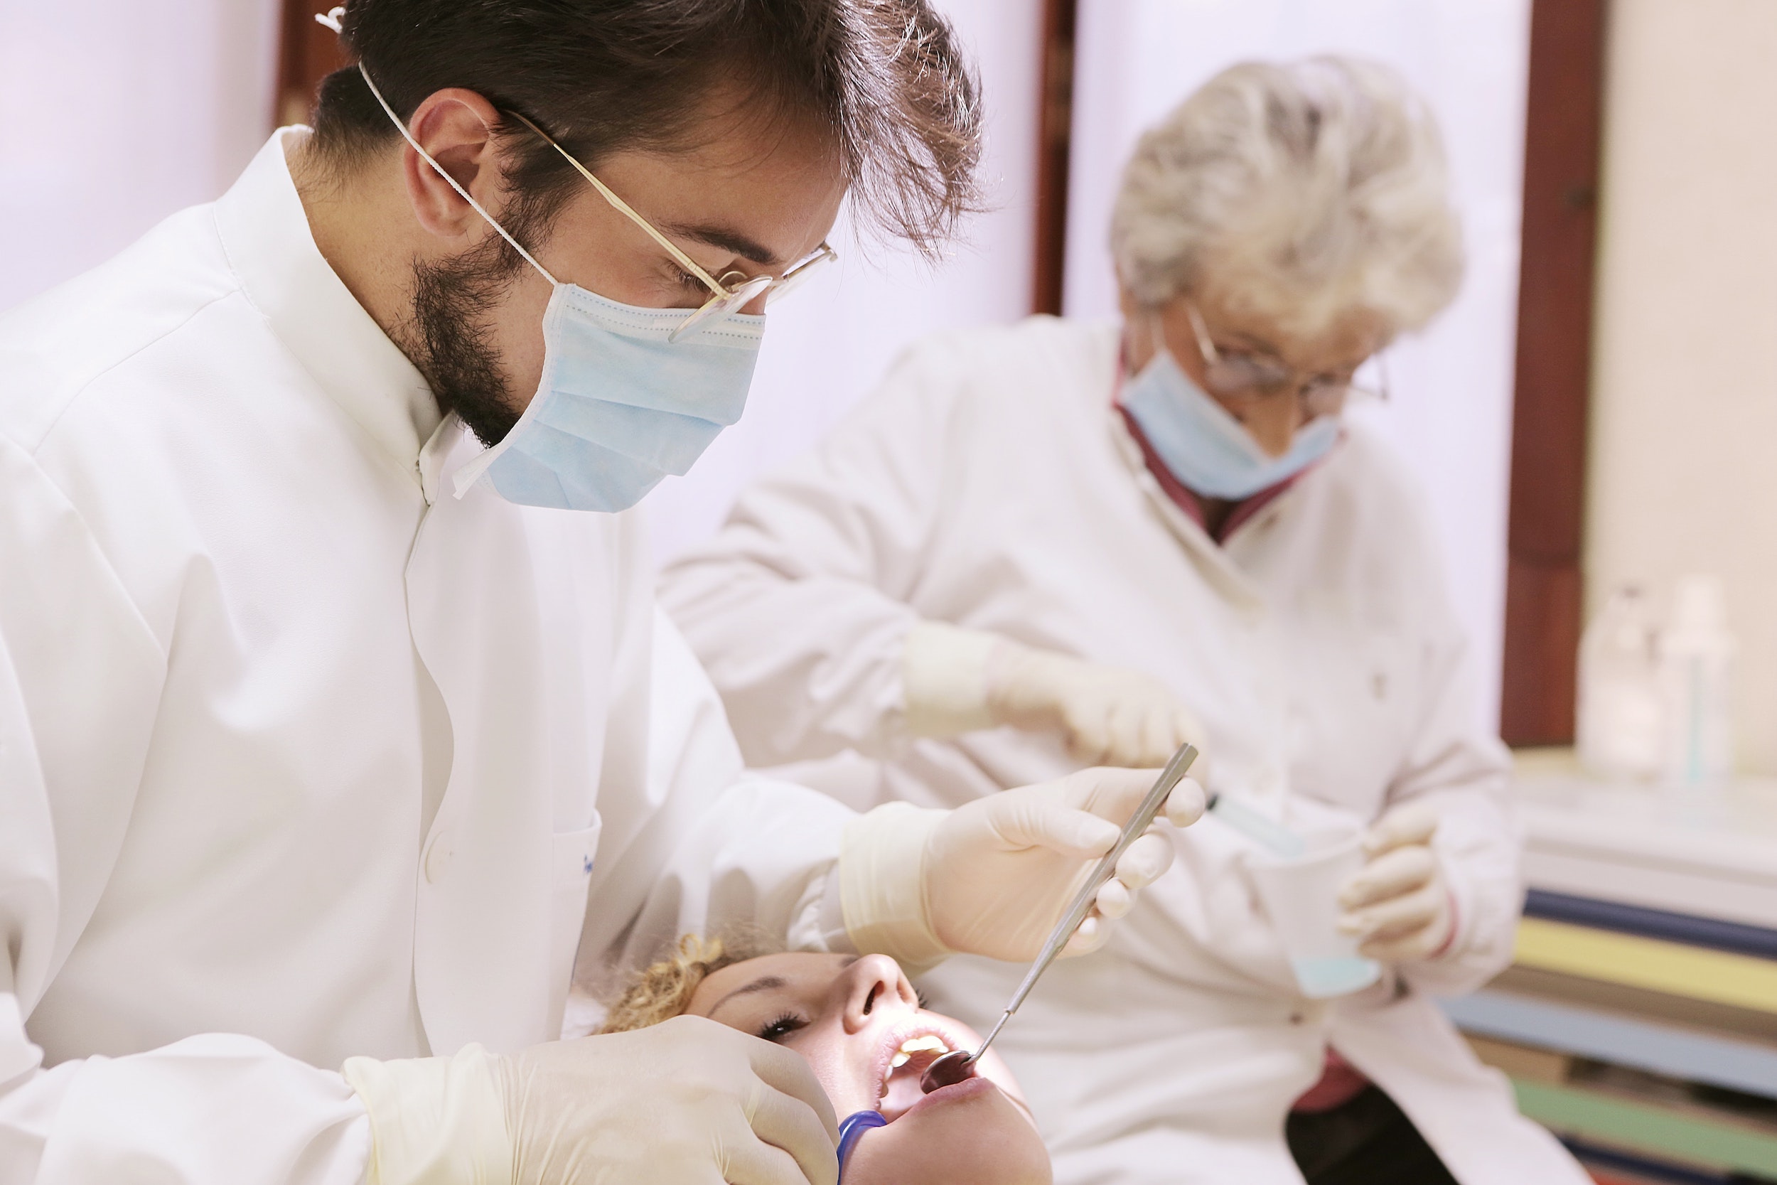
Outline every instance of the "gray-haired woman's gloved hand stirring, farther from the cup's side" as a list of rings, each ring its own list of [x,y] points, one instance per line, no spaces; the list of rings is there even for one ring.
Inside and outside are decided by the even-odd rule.
[[[1059,732],[1096,766],[1164,766],[1185,741],[1203,748],[1196,716],[1153,675],[1004,638],[986,659],[986,709],[999,725]]]

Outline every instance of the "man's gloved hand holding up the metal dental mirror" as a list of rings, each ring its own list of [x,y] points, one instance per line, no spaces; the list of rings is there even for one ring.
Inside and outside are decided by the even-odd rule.
[[[1082,769],[956,810],[888,803],[853,819],[839,856],[848,934],[860,950],[892,954],[910,968],[956,952],[1036,958],[1157,776],[1155,769]],[[1164,810],[1175,826],[1196,823],[1203,789],[1185,778]],[[1171,862],[1164,835],[1150,831],[1130,844],[1064,954],[1104,945],[1109,924]]]

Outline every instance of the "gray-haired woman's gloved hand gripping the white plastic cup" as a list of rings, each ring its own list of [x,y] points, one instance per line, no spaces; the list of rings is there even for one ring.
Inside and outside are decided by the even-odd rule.
[[[1340,933],[1381,963],[1441,954],[1455,936],[1455,908],[1432,851],[1438,814],[1409,803],[1383,815],[1363,837],[1368,863],[1340,890]]]

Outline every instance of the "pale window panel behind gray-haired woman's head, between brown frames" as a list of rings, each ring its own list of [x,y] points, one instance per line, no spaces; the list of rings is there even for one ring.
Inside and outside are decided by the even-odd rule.
[[[1658,5],[1660,0],[1649,0]],[[1457,302],[1388,354],[1374,419],[1420,473],[1496,716],[1505,624],[1528,0],[1080,0],[1064,307],[1109,316],[1105,233],[1139,131],[1224,66],[1359,53],[1400,69],[1443,124],[1468,240]]]

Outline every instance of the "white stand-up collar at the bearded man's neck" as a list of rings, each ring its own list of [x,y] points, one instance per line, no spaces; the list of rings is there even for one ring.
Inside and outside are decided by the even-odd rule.
[[[272,332],[418,485],[421,444],[441,428],[437,400],[315,245],[284,158],[307,135],[300,126],[272,133],[217,201],[217,233]]]

